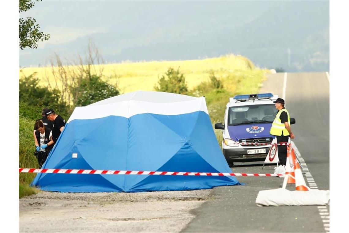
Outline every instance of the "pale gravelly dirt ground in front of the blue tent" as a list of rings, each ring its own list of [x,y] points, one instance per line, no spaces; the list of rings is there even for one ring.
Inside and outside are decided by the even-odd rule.
[[[210,192],[39,192],[19,201],[20,232],[180,232]]]

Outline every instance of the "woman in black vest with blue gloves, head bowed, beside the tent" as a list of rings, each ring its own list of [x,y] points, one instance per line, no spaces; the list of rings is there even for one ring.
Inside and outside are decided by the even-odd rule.
[[[37,143],[35,143],[36,151],[34,154],[38,159],[39,168],[41,168],[54,143],[52,140],[52,130],[50,128],[44,126],[42,121],[37,121],[35,126],[37,128],[35,131]]]

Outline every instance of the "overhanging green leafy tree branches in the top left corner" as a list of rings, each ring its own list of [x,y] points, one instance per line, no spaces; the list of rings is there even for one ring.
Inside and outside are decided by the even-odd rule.
[[[42,0],[19,0],[19,12],[26,12],[30,8],[34,7],[35,1]],[[31,17],[25,19],[19,19],[19,44],[20,49],[31,48],[36,49],[38,47],[37,42],[47,41],[50,38],[49,34],[44,34],[39,31],[39,24]]]

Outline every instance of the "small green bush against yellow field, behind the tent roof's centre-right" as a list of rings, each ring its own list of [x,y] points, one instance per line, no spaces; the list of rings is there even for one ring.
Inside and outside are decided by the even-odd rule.
[[[179,67],[177,70],[170,67],[165,75],[166,76],[162,75],[162,77],[159,78],[158,86],[154,86],[154,89],[157,92],[170,92],[183,95],[188,94],[188,86],[185,82],[183,73],[179,73]]]

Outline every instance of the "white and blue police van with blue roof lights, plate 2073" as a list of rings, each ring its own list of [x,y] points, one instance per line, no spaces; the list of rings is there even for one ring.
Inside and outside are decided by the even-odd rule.
[[[236,95],[229,98],[224,122],[216,123],[215,129],[223,130],[222,148],[230,167],[234,162],[264,161],[275,136],[270,127],[277,113],[275,101],[279,96],[272,93]],[[290,118],[290,124],[296,123]]]

